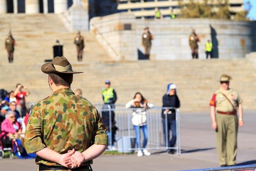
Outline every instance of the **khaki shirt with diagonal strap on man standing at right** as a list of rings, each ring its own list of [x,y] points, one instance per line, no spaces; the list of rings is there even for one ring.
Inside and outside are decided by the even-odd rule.
[[[227,96],[227,98],[229,98],[229,100],[231,101],[231,103],[234,105],[236,109],[238,105],[243,102],[243,100],[240,98],[240,95],[236,90],[229,89],[226,94],[225,91],[220,88],[213,94],[213,97],[211,98],[211,101],[210,101],[210,106],[216,107],[216,111],[222,111],[222,112],[234,111],[232,105],[222,93],[224,93]]]

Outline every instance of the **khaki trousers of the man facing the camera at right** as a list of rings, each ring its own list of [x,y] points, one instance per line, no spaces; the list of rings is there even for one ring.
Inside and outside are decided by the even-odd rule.
[[[216,142],[220,165],[235,165],[237,153],[237,115],[216,114]]]

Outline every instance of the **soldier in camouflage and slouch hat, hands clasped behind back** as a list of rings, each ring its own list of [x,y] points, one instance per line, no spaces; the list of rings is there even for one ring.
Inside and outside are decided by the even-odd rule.
[[[43,64],[53,95],[34,104],[25,132],[27,153],[36,153],[41,170],[89,171],[92,159],[108,145],[97,109],[70,89],[73,74],[65,57]]]

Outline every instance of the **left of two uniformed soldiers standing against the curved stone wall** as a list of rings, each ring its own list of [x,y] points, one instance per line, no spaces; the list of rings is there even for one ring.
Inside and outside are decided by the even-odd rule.
[[[142,34],[142,44],[145,48],[145,58],[149,59],[150,56],[150,48],[151,48],[151,40],[154,39],[153,35],[149,32],[149,28],[146,27],[144,29],[144,33]]]

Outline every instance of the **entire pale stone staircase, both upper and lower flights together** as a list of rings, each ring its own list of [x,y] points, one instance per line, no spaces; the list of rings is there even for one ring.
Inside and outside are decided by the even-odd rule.
[[[4,39],[9,31],[17,41],[14,62],[7,62]],[[109,79],[117,91],[117,104],[126,104],[140,91],[149,102],[159,106],[170,82],[177,84],[181,111],[209,111],[209,100],[220,87],[222,73],[233,77],[231,87],[243,98],[245,110],[256,109],[256,69],[250,60],[173,60],[173,61],[111,61],[106,51],[90,32],[83,32],[83,62],[76,61],[73,44],[75,33],[68,32],[54,14],[0,15],[0,88],[14,90],[16,83],[25,84],[31,92],[27,102],[37,102],[51,95],[47,75],[41,72],[45,59],[52,58],[56,39],[64,44],[64,55],[72,63],[75,74],[72,89],[81,88],[83,97],[101,104],[101,90]]]

